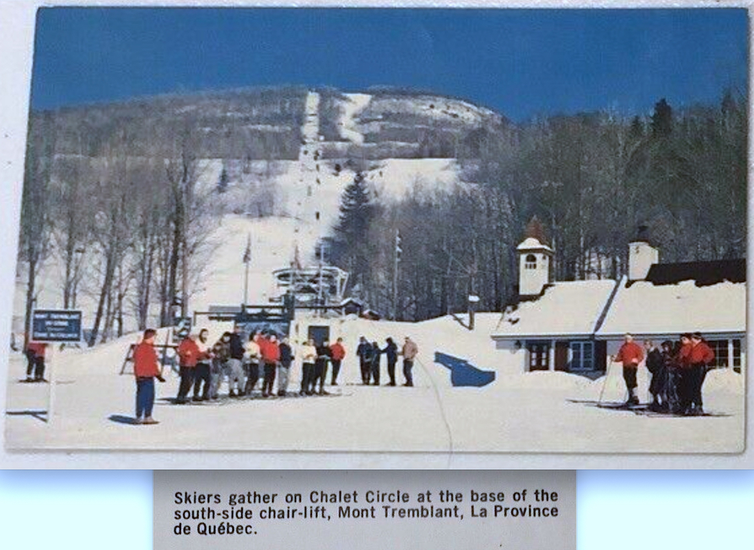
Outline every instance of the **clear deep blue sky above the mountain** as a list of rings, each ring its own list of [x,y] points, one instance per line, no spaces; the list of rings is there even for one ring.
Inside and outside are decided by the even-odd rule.
[[[514,121],[713,102],[746,83],[743,9],[44,8],[32,108],[270,84],[396,85]]]

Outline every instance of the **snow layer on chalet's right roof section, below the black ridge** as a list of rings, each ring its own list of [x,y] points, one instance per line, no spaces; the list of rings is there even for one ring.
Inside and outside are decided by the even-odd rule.
[[[693,280],[675,285],[636,281],[621,285],[597,336],[677,335],[699,331],[746,331],[746,283],[725,281],[697,286]]]

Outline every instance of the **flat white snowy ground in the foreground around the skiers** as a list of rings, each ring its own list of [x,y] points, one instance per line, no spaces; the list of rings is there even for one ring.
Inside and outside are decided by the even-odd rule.
[[[345,339],[348,356],[334,396],[252,399],[224,405],[167,405],[178,380],[158,385],[158,426],[128,426],[111,420],[133,416],[133,378],[118,375],[135,336],[92,350],[70,350],[54,359],[58,383],[51,423],[29,415],[6,416],[9,448],[247,449],[326,451],[539,451],[733,453],[743,448],[743,377],[713,371],[705,405],[715,417],[646,417],[596,408],[604,380],[591,382],[561,372],[514,374],[501,363],[489,333],[497,314],[480,314],[467,331],[443,317],[421,323],[337,319],[333,338]],[[218,334],[222,327],[213,327]],[[411,335],[420,355],[415,387],[363,387],[354,359],[357,338],[381,344]],[[469,359],[498,371],[482,388],[452,387],[449,371],[434,364],[434,352]],[[382,366],[382,383],[387,381]],[[20,356],[11,360],[8,410],[47,408],[48,387],[16,383]],[[402,382],[400,364],[398,381]],[[293,366],[290,389],[299,383]],[[608,387],[622,382],[618,368]],[[618,399],[608,395],[603,399]],[[221,392],[222,393],[222,392]]]

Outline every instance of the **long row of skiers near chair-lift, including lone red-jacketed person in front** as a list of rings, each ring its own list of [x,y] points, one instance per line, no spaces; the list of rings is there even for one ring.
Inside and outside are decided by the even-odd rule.
[[[144,332],[142,341],[133,350],[133,372],[136,377],[136,423],[157,423],[152,418],[155,401],[155,378],[164,382],[155,352],[155,335],[153,329]],[[256,384],[262,380],[262,397],[274,395],[274,383],[277,377],[277,396],[288,395],[290,368],[294,353],[288,338],[280,341],[274,333],[254,332],[244,342],[241,327],[233,332],[225,332],[215,344],[209,342],[209,331],[204,328],[198,335],[189,335],[179,344],[180,383],[176,404],[219,399],[222,382],[227,380],[228,397],[250,396],[256,390]],[[313,396],[315,393],[325,395],[329,365],[333,365],[330,385],[338,385],[338,375],[345,359],[346,351],[343,339],[338,338],[334,344],[323,341],[315,344],[310,339],[300,347],[302,362],[301,387],[299,396]],[[392,338],[387,339],[387,347],[382,350],[374,342],[369,344],[366,338],[360,338],[357,356],[360,360],[364,384],[379,384],[380,356],[385,353],[388,359],[388,375],[395,386],[395,364],[397,356],[403,355],[404,386],[412,386],[411,369],[418,354],[418,347],[408,337],[402,350],[398,350]],[[192,397],[189,398],[189,393]]]

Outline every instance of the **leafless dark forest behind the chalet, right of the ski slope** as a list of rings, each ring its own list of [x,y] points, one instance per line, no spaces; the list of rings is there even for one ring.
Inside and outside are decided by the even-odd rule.
[[[746,97],[646,117],[609,110],[480,128],[459,151],[452,192],[417,182],[402,200],[360,176],[342,197],[333,258],[354,294],[399,319],[516,299],[515,246],[537,216],[555,249],[553,280],[621,277],[647,225],[661,261],[746,255]],[[396,261],[398,260],[398,261]],[[397,267],[397,268],[396,268]]]

